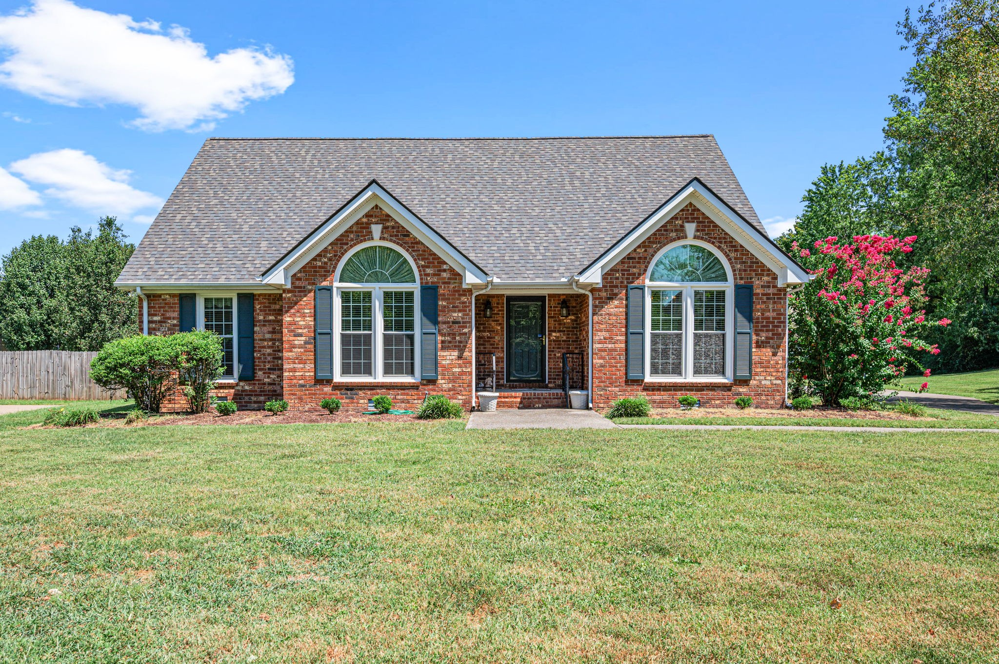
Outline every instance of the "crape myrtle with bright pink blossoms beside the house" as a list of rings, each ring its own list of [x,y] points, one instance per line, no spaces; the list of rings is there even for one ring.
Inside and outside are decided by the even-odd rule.
[[[788,378],[795,394],[818,396],[826,406],[846,398],[876,400],[907,370],[922,370],[922,360],[940,352],[923,340],[931,325],[923,309],[929,270],[898,264],[915,240],[856,235],[849,242],[830,236],[810,247],[792,244],[814,275],[790,295]]]

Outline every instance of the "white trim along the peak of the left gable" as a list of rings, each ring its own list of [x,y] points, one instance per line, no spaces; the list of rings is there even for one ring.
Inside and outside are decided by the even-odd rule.
[[[305,241],[286,254],[261,277],[266,284],[291,286],[292,275],[315,258],[320,251],[330,245],[341,233],[351,227],[365,213],[378,205],[404,228],[413,233],[421,242],[434,250],[449,265],[462,275],[462,285],[485,284],[487,274],[478,265],[464,256],[451,242],[434,230],[423,219],[406,208],[378,182],[372,182],[331,216],[319,228],[310,233]]]

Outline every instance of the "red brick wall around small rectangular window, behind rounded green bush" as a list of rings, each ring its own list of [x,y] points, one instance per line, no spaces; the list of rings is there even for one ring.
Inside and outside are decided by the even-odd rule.
[[[180,331],[180,298],[176,293],[154,293],[149,298],[149,333],[174,334]],[[142,320],[142,303],[139,303]],[[254,379],[239,383],[221,383],[212,392],[217,397],[235,401],[241,409],[258,410],[274,399],[282,398],[282,325],[281,295],[254,294]],[[188,409],[179,389],[163,405],[163,412]]]

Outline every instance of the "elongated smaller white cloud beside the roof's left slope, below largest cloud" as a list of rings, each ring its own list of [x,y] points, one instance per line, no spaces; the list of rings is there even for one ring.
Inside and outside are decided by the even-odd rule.
[[[132,171],[112,168],[79,150],[39,153],[10,169],[30,182],[47,184],[46,195],[103,214],[128,216],[163,205],[159,196],[128,183]]]

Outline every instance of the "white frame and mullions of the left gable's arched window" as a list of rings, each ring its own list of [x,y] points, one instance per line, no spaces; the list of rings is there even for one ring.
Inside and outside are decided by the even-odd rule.
[[[415,283],[349,283],[340,281],[340,272],[347,261],[361,249],[370,246],[386,246],[398,251],[410,262],[413,274],[416,277]],[[371,376],[345,376],[343,372],[343,349],[341,347],[341,335],[343,334],[342,314],[343,306],[342,293],[347,291],[371,291],[372,293],[372,375]],[[413,292],[413,375],[412,376],[387,376],[385,375],[385,292],[392,291],[412,291]],[[352,248],[341,258],[334,273],[333,282],[333,379],[335,382],[344,383],[420,383],[421,366],[421,312],[420,312],[420,271],[413,257],[398,244],[374,240],[364,242]],[[347,334],[351,334],[348,332]]]

